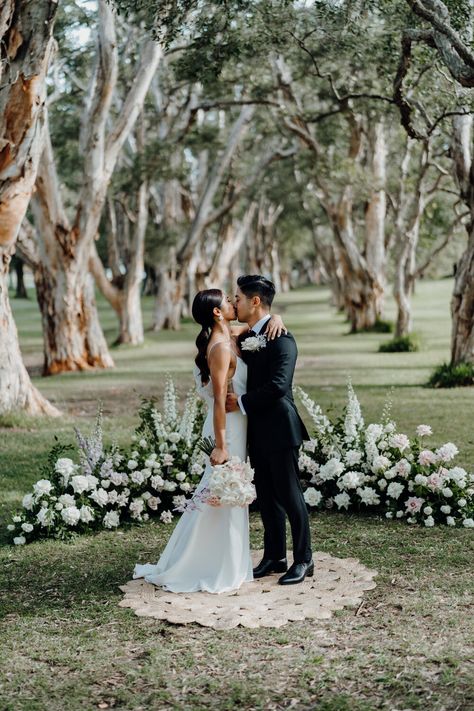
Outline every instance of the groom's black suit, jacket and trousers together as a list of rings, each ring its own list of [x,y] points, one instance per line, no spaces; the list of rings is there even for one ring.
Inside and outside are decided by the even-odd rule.
[[[263,326],[263,329],[265,328]],[[245,340],[245,339],[244,339]],[[288,333],[257,351],[242,351],[248,366],[242,405],[248,416],[250,462],[264,526],[264,557],[286,557],[286,516],[297,563],[311,560],[308,512],[301,489],[298,450],[308,432],[293,400],[298,351]]]

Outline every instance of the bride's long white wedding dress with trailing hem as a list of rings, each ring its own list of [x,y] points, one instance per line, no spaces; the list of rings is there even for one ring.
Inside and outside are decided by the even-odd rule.
[[[202,436],[214,437],[212,384],[201,384],[197,367],[194,378],[199,394],[208,405]],[[239,357],[232,385],[237,395],[246,392],[247,366]],[[226,443],[231,456],[246,459],[247,418],[240,410],[226,416]],[[211,469],[207,460],[196,491],[206,486]],[[202,503],[198,503],[198,507],[182,514],[158,563],[135,566],[134,578],[145,578],[176,593],[198,590],[222,593],[253,580],[248,507]]]

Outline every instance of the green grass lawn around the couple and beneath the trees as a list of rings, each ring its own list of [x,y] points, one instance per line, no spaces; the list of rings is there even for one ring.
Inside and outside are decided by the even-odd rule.
[[[276,304],[297,338],[296,382],[339,414],[351,377],[367,421],[392,391],[393,415],[407,434],[431,424],[436,444],[455,442],[474,468],[474,390],[423,386],[449,354],[450,280],[421,282],[414,299],[418,353],[379,354],[383,334],[347,335],[326,289],[302,289]],[[115,317],[101,303],[109,342]],[[314,547],[356,557],[379,571],[359,610],[327,622],[280,630],[217,632],[137,618],[117,607],[118,585],[136,562],[156,560],[170,526],[149,523],[70,543],[7,545],[5,524],[56,434],[90,429],[103,401],[107,439],[128,441],[140,395],[159,395],[165,372],[181,393],[191,385],[196,328],[146,334],[138,348],[113,350],[116,368],[42,379],[42,343],[33,299],[14,301],[25,362],[59,420],[0,420],[0,710],[320,709],[469,711],[474,709],[473,535],[419,529],[356,515],[312,515]],[[151,301],[144,303],[145,323]],[[387,307],[394,316],[393,304]],[[251,517],[255,547],[262,542]]]

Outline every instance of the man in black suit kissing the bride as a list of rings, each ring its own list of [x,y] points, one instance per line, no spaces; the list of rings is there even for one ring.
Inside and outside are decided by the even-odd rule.
[[[240,343],[248,366],[247,392],[227,396],[227,412],[239,407],[248,416],[250,462],[255,470],[255,488],[264,527],[264,553],[254,569],[255,578],[285,573],[281,585],[301,583],[314,572],[308,512],[298,469],[298,450],[309,439],[292,396],[297,357],[290,333],[275,340],[262,334],[270,318],[275,296],[273,283],[263,276],[237,280],[237,318],[250,331]],[[286,516],[293,538],[294,563],[287,570]],[[285,572],[286,571],[286,572]]]

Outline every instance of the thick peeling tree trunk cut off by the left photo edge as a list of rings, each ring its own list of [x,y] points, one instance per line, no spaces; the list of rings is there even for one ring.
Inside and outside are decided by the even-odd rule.
[[[6,0],[0,9],[0,414],[60,414],[30,381],[8,299],[10,258],[42,149],[57,8],[54,0]]]

